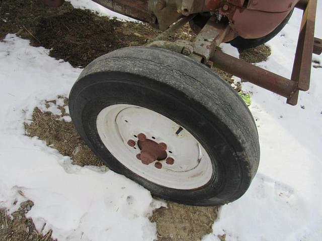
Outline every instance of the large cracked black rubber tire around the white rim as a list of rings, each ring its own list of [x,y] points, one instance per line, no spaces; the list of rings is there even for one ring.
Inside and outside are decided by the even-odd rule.
[[[106,149],[99,112],[116,103],[161,113],[187,129],[208,152],[211,180],[191,190],[167,188],[131,172]],[[96,155],[157,197],[190,205],[222,205],[248,189],[260,159],[257,128],[237,93],[206,66],[159,48],[130,47],[101,56],[81,73],[69,95],[73,124]]]

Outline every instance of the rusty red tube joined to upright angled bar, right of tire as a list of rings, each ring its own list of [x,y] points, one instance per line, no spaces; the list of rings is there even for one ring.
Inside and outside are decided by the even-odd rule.
[[[299,90],[308,90],[312,53],[320,54],[322,52],[322,42],[314,38],[314,22],[316,12],[316,1],[309,0],[305,7],[302,17],[300,33],[295,53],[291,79],[284,78],[270,71],[247,63],[246,61],[236,59],[221,51],[216,51],[210,60],[213,65],[228,73],[240,77],[244,81],[249,81],[259,85],[274,93],[287,98],[287,103],[297,104]],[[297,5],[303,8],[304,1]],[[316,42],[314,42],[314,40]]]

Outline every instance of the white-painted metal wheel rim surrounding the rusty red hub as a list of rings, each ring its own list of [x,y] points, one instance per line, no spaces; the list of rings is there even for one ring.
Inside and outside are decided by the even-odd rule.
[[[210,157],[193,135],[168,117],[153,110],[130,104],[110,105],[97,116],[97,131],[111,154],[135,174],[174,189],[195,189],[204,186],[213,175]],[[180,130],[180,133],[177,131]],[[130,147],[128,140],[144,133],[147,139],[166,143],[167,158],[175,160],[168,164],[158,160],[144,165],[136,158],[140,153],[137,139]],[[162,165],[156,164],[160,163]],[[159,168],[162,166],[162,168]]]

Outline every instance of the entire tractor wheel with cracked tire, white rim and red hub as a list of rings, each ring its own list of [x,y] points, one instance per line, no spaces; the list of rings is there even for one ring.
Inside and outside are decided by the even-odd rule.
[[[260,158],[252,114],[206,66],[148,47],[90,63],[69,95],[73,124],[113,171],[157,197],[221,205],[243,195]]]

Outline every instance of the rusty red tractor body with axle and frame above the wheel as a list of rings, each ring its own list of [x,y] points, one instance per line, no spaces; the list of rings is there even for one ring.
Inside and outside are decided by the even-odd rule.
[[[114,12],[149,23],[165,31],[148,46],[168,48],[188,55],[208,66],[215,66],[287,98],[297,104],[299,90],[309,88],[312,53],[322,52],[322,41],[314,38],[317,0],[93,0]],[[63,0],[43,0],[59,7]],[[216,47],[236,37],[263,38],[272,33],[294,8],[303,10],[291,79],[261,69],[243,60],[222,53]],[[193,43],[170,43],[162,39],[181,28],[196,16],[206,16],[198,26]],[[194,29],[194,28],[193,28]],[[258,76],[261,76],[258,78]]]

